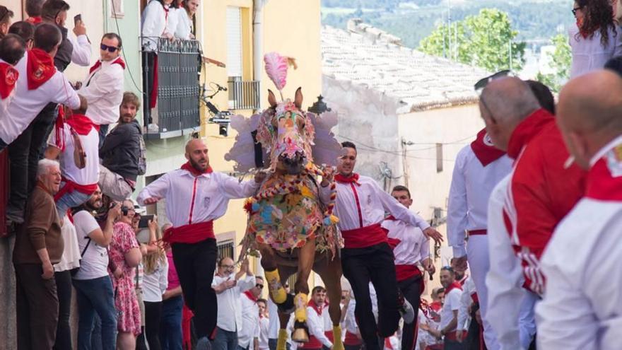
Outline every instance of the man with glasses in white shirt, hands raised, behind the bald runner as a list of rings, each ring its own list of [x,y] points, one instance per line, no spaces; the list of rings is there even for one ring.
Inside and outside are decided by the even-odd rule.
[[[237,350],[237,333],[244,330],[241,293],[250,291],[256,285],[247,259],[242,262],[240,271],[235,275],[233,274],[234,268],[233,259],[223,257],[218,262],[218,273],[211,282],[218,298],[216,337],[211,343],[214,350]],[[255,308],[254,314],[257,315],[257,312]],[[252,334],[254,334],[254,328]]]

